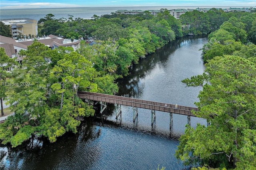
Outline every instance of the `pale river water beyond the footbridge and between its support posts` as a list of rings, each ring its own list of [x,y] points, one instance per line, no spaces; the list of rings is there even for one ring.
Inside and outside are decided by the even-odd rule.
[[[185,37],[166,45],[156,53],[148,55],[133,66],[130,75],[118,80],[118,96],[139,98],[168,104],[195,107],[200,87],[186,87],[181,80],[202,74],[204,63],[200,58],[206,37]],[[173,115],[171,131],[170,115],[156,111],[156,123],[151,127],[151,111],[138,108],[138,119],[133,123],[132,107],[122,106],[122,126],[178,138],[184,133],[188,120],[184,115]],[[108,119],[115,121],[115,116]],[[191,125],[206,124],[204,119],[191,117]]]

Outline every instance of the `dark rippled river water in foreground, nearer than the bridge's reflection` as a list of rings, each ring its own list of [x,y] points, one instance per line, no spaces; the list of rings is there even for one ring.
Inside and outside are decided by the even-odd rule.
[[[31,149],[26,146],[1,148],[0,169],[13,170],[106,170],[185,168],[173,156],[177,141],[138,133],[110,125],[88,125],[84,122],[76,135],[67,134],[50,144]],[[142,147],[143,146],[143,147]],[[166,158],[168,157],[168,158]]]

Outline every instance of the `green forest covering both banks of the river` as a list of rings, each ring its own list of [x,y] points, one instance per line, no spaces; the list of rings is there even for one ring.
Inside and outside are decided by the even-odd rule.
[[[38,41],[20,51],[22,64],[0,49],[0,81],[27,82],[28,86],[0,86],[15,115],[0,124],[0,143],[12,147],[31,137],[55,142],[81,120],[94,115],[92,105],[76,97],[78,90],[115,94],[117,78],[127,76],[132,64],[176,38],[208,35],[202,47],[205,73],[183,80],[202,86],[198,117],[207,127],[187,126],[176,157],[185,164],[212,168],[252,169],[256,162],[256,13],[186,12],[177,20],[166,9],[154,17],[107,14],[84,20],[68,15],[38,21],[40,35],[81,39],[80,47],[49,49]],[[2,26],[1,26],[2,35]],[[94,45],[84,40],[93,37]],[[82,40],[84,39],[84,40]],[[14,69],[6,71],[8,67]],[[2,113],[4,114],[4,113]],[[249,168],[248,168],[249,167]]]

